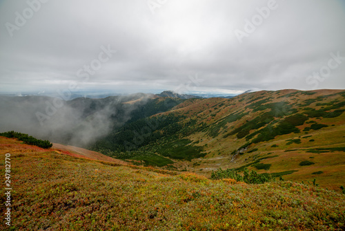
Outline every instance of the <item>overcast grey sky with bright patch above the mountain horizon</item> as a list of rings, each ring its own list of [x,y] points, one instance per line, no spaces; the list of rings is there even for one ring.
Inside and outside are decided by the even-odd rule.
[[[0,0],[0,21],[0,93],[345,89],[345,1]]]

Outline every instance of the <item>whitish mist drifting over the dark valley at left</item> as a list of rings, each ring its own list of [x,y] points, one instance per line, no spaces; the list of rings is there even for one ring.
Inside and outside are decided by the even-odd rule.
[[[117,132],[149,98],[150,95],[129,95],[66,102],[42,96],[0,96],[0,132],[14,130],[51,142],[86,147]],[[137,101],[125,103],[133,100]]]

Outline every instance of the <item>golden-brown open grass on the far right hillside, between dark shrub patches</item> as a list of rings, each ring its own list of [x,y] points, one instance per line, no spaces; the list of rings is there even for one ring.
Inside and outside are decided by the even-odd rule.
[[[262,102],[261,100],[267,100],[267,102]],[[339,190],[340,185],[345,185],[345,152],[325,151],[320,154],[313,154],[305,149],[345,147],[345,113],[335,118],[308,118],[303,125],[297,126],[300,130],[299,133],[288,133],[276,136],[273,140],[252,144],[243,155],[236,155],[235,157],[231,153],[245,145],[248,140],[246,138],[237,138],[236,135],[227,137],[224,137],[224,135],[269,111],[268,109],[262,111],[254,110],[255,107],[265,104],[287,102],[292,109],[297,110],[295,113],[305,113],[307,107],[318,110],[344,101],[344,91],[342,90],[308,92],[296,90],[259,91],[238,95],[230,100],[222,98],[187,100],[167,113],[188,115],[188,118],[196,119],[199,123],[206,122],[208,124],[208,129],[188,136],[194,142],[200,141],[197,145],[204,146],[204,150],[207,153],[205,158],[198,158],[191,163],[184,163],[184,165],[187,164],[193,168],[195,172],[209,176],[212,170],[219,167],[241,167],[253,163],[257,158],[262,158],[266,154],[272,153],[269,156],[277,157],[260,161],[260,163],[272,164],[272,166],[269,170],[260,170],[260,173],[298,170],[293,174],[284,176],[284,178],[305,182],[316,178],[317,183],[322,187]],[[339,109],[345,109],[345,107],[343,106]],[[331,111],[334,111],[334,109]],[[224,124],[219,125],[224,121],[224,118],[236,113],[248,113],[248,115],[244,115],[234,122],[225,123],[226,126],[223,126]],[[282,114],[282,117],[275,119],[282,120],[288,116],[288,113],[284,110],[282,110]],[[307,122],[311,121],[315,121],[318,124],[326,124],[328,127],[319,130],[303,131],[306,127],[311,126],[311,124],[307,124]],[[219,130],[217,131],[217,129]],[[254,131],[256,130],[252,129],[250,133]],[[303,138],[304,136],[310,137]],[[300,139],[301,143],[287,145],[287,140],[289,139]],[[278,145],[278,147],[271,147],[272,145]],[[257,151],[248,153],[251,149],[257,149]],[[285,152],[290,149],[304,150]],[[301,167],[299,163],[303,160],[312,160],[315,165]],[[249,169],[255,169],[255,167],[250,166]],[[313,174],[313,172],[319,171],[323,173]]]

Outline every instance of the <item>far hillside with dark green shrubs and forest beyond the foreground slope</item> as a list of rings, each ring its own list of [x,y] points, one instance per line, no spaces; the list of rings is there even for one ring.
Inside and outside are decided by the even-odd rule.
[[[338,189],[345,185],[345,92],[259,91],[189,99],[127,122],[91,148],[137,165],[191,170],[244,167]],[[326,165],[324,164],[326,163]]]

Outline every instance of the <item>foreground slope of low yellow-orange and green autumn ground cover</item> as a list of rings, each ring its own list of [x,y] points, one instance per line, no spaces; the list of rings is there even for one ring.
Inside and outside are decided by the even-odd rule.
[[[345,228],[345,196],[300,183],[211,181],[100,163],[3,138],[1,175],[6,153],[12,165],[12,230]],[[3,196],[0,204],[3,214]],[[4,222],[0,225],[5,229]]]

